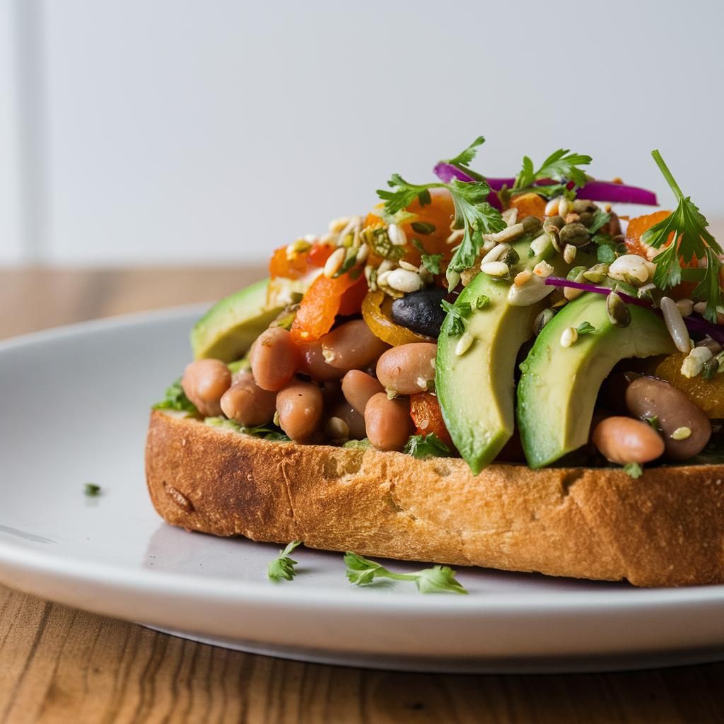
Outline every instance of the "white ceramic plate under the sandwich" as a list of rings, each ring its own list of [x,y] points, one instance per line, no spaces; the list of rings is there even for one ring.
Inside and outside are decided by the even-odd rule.
[[[410,670],[635,668],[724,657],[724,586],[633,589],[460,568],[469,596],[358,589],[342,557],[172,529],[146,494],[148,407],[188,361],[199,309],[0,344],[0,581],[223,646]],[[103,488],[83,494],[85,482]],[[414,564],[391,563],[412,571]]]

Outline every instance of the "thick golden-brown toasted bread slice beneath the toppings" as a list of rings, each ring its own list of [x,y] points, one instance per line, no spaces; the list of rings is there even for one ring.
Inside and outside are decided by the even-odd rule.
[[[724,583],[724,466],[492,465],[269,442],[159,411],[146,475],[174,526],[371,557],[635,586]]]

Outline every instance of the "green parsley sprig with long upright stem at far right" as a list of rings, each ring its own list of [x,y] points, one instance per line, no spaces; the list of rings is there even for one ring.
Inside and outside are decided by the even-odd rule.
[[[691,196],[684,197],[664,159],[662,159],[661,153],[652,151],[651,155],[678,199],[676,211],[667,216],[662,222],[654,224],[641,237],[644,243],[656,249],[662,246],[666,247],[664,251],[654,257],[656,263],[654,283],[661,290],[675,287],[681,282],[681,260],[683,260],[684,264],[689,264],[692,259],[705,258],[707,266],[704,269],[690,270],[694,272],[692,276],[699,282],[693,296],[695,299],[707,303],[704,317],[711,322],[716,322],[717,306],[722,303],[719,286],[721,262],[718,256],[722,253],[722,248],[707,230],[709,222],[704,218],[696,204],[691,201]],[[672,233],[674,235],[673,241],[666,246],[669,235]]]

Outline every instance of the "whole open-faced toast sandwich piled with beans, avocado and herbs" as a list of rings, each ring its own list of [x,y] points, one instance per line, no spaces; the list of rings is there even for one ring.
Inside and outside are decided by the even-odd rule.
[[[155,405],[148,488],[219,536],[637,586],[724,582],[720,245],[556,151],[395,174],[217,303]],[[169,376],[173,371],[169,371]]]

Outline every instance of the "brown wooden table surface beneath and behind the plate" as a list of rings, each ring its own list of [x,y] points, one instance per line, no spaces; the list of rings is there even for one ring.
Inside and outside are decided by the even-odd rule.
[[[0,269],[0,337],[209,300],[259,274]],[[724,663],[565,676],[303,664],[195,644],[0,586],[0,721],[12,724],[722,722],[723,691]]]

